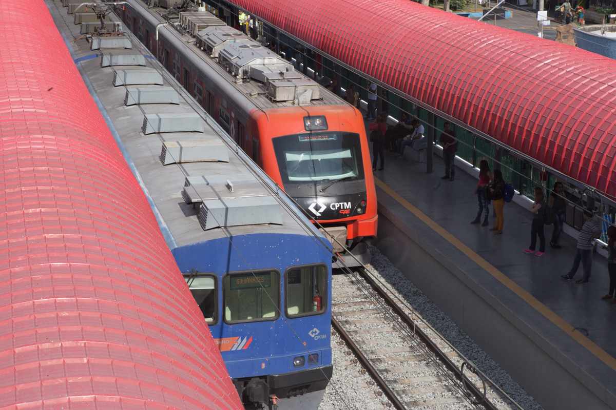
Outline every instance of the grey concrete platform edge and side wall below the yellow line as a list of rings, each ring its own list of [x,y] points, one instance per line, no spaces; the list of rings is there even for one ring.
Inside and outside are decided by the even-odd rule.
[[[394,199],[382,190],[379,190],[378,195],[379,199],[386,199],[379,201],[379,249],[527,392],[535,396],[544,408],[616,409],[614,389],[610,390],[600,381],[601,376],[613,374],[612,369],[557,329],[539,312],[533,310],[535,314],[530,312],[529,316],[529,312],[521,315],[514,311],[513,308],[517,306],[508,306],[503,299],[517,299],[514,304],[524,304],[526,310],[529,306],[500,283],[494,284],[496,291],[480,285],[447,253],[440,251],[439,246],[434,246],[445,243],[444,248],[449,246],[455,250],[453,245],[415,216],[412,226],[409,226],[408,221],[403,221],[396,216],[395,211],[389,209],[391,205],[387,205],[387,202],[391,203]],[[415,249],[406,254],[395,253],[395,247],[387,246],[383,238],[396,238],[398,243],[410,242]],[[408,258],[411,254],[413,257]],[[455,258],[460,254],[456,252]],[[419,270],[430,272],[430,275],[418,275]],[[485,272],[485,275],[489,274]],[[494,282],[498,281],[494,279]],[[482,317],[481,326],[477,317]],[[490,329],[484,326],[485,323],[492,325]],[[562,346],[546,339],[541,332],[546,326],[556,328],[551,329],[552,333],[556,331],[563,338],[570,339],[570,342],[564,341],[567,350],[572,350],[570,354],[579,353],[583,357],[582,361],[590,361],[591,365],[583,366],[574,361],[561,350]],[[604,371],[593,371],[598,366],[602,366]],[[546,380],[553,380],[549,388],[546,388]]]

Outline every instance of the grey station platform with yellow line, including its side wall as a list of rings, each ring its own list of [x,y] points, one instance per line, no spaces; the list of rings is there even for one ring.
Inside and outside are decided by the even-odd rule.
[[[525,207],[506,203],[502,235],[490,231],[492,207],[490,226],[470,224],[471,170],[458,162],[455,181],[443,180],[439,156],[427,174],[425,163],[386,152],[385,169],[375,171],[377,246],[545,409],[615,409],[616,305],[600,299],[606,259],[594,256],[590,283],[564,282],[575,239],[561,235],[554,250],[546,226],[545,255],[523,253],[532,220]]]

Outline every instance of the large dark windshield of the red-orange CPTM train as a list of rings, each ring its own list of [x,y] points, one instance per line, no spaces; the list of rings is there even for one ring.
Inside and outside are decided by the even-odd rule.
[[[274,138],[284,183],[362,179],[359,134],[323,132]]]

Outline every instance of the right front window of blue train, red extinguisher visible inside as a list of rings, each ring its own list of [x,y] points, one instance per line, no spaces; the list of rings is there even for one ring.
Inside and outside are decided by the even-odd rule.
[[[299,317],[325,312],[327,270],[325,266],[294,267],[286,271],[286,316]]]

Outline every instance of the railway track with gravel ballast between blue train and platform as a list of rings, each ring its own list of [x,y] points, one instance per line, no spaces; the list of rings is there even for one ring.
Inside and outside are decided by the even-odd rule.
[[[365,270],[334,275],[332,288],[334,329],[394,408],[516,408],[492,404],[474,368]]]

